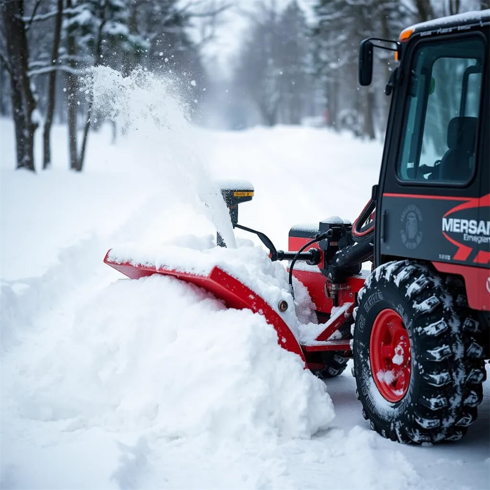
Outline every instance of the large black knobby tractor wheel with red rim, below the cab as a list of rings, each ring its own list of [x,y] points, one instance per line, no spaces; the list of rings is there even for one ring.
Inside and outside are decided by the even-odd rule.
[[[353,374],[364,419],[400,443],[461,438],[486,378],[484,327],[464,287],[424,264],[393,261],[366,279],[357,303]]]

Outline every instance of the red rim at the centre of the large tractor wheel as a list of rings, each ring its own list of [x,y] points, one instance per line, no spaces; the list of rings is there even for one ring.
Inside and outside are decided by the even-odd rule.
[[[399,402],[410,383],[411,352],[402,317],[390,308],[379,312],[369,342],[371,371],[381,395]]]

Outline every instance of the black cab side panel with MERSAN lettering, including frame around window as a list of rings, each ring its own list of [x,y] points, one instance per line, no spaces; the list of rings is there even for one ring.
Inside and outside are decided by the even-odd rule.
[[[435,40],[434,31],[428,39],[427,33],[416,30],[408,42],[402,43],[403,62],[388,118],[376,211],[376,266],[395,257],[480,267],[488,267],[490,261],[489,26],[486,22],[450,31],[447,35],[438,32],[437,39],[477,35],[485,43],[475,169],[469,182],[450,184],[403,181],[397,175],[408,118],[411,60],[422,43]]]

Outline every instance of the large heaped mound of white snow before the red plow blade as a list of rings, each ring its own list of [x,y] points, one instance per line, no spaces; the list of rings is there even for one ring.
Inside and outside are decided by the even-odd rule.
[[[51,336],[20,357],[20,379],[3,373],[27,419],[243,440],[310,437],[334,416],[325,385],[263,317],[172,278],[118,281]]]

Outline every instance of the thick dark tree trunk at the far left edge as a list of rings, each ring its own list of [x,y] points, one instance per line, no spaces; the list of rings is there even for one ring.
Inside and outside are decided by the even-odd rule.
[[[12,111],[14,113],[17,168],[34,168],[34,132],[37,123],[32,116],[36,101],[31,90],[28,74],[26,29],[22,20],[23,0],[3,2],[2,23],[10,65]]]

